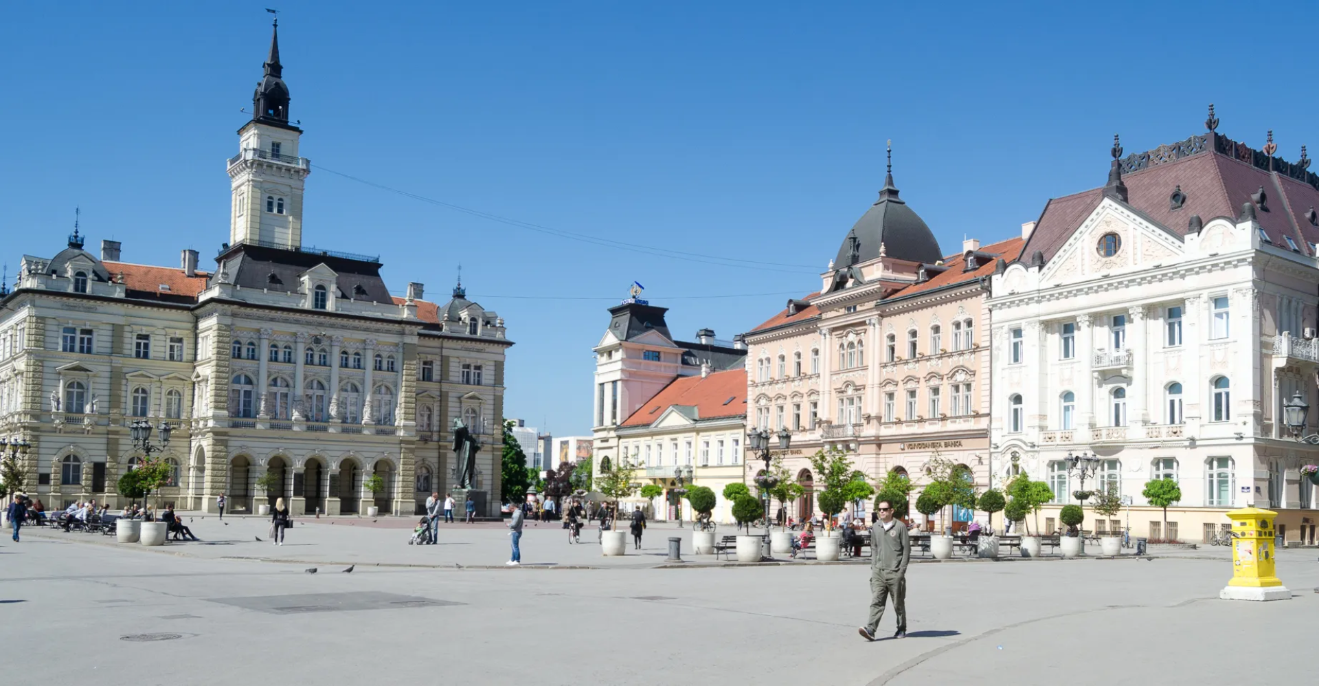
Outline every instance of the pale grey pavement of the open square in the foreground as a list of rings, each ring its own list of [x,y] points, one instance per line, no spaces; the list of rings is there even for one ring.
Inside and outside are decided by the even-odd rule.
[[[260,557],[259,547],[285,555],[297,538],[334,549],[311,551],[327,559],[401,549],[400,559],[503,562],[506,537],[475,526],[448,532],[448,550],[414,550],[406,530],[309,524],[277,549],[240,542],[262,525],[256,520],[218,529],[241,526],[223,538],[232,542],[210,522],[194,525],[216,545],[171,547],[214,557],[30,529],[22,544],[0,541],[5,669],[24,682],[96,685],[1108,686],[1236,683],[1260,670],[1277,683],[1312,679],[1303,658],[1319,611],[1312,550],[1279,557],[1295,595],[1275,603],[1217,600],[1231,574],[1223,561],[914,565],[910,637],[869,644],[856,636],[864,565],[565,569],[566,555],[599,561],[598,547],[570,547],[562,530],[542,526],[528,536],[541,547],[528,553],[561,563],[553,573],[364,565],[342,574],[318,563],[313,575],[305,565],[232,558]],[[892,627],[885,617],[881,633]],[[1235,662],[1223,650],[1242,641],[1261,654]]]

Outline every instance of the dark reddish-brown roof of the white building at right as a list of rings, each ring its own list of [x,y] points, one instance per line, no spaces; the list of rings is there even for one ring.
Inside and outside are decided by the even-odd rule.
[[[1291,236],[1298,244],[1301,239],[1319,239],[1319,228],[1304,219],[1310,206],[1319,207],[1319,191],[1212,150],[1125,174],[1122,182],[1126,185],[1126,204],[1179,236],[1186,235],[1191,215],[1200,215],[1204,222],[1240,216],[1241,206],[1252,202],[1252,194],[1264,187],[1268,211],[1257,207],[1256,220],[1274,245],[1289,248],[1283,236]],[[1169,198],[1178,186],[1186,194],[1186,202],[1174,210]],[[1051,259],[1101,198],[1103,189],[1099,187],[1049,201],[1021,251],[1021,260],[1029,260],[1035,251],[1043,252],[1046,260]],[[1297,226],[1301,227],[1299,234]],[[1299,247],[1308,253],[1306,245]]]

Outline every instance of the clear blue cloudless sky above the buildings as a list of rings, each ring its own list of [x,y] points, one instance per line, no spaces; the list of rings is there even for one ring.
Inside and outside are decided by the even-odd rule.
[[[557,435],[590,430],[591,347],[633,280],[675,335],[753,327],[818,286],[882,185],[888,139],[944,252],[1103,185],[1115,132],[1128,152],[1203,132],[1210,102],[1233,139],[1260,146],[1272,128],[1289,160],[1319,145],[1312,3],[11,3],[11,276],[62,247],[75,204],[90,244],[121,240],[128,261],[214,257],[276,3],[302,153],[324,165],[303,240],[380,253],[392,289],[423,281],[429,299],[460,261],[517,342],[505,414]],[[330,169],[612,241],[806,266],[553,237]],[[703,294],[757,296],[679,299]]]

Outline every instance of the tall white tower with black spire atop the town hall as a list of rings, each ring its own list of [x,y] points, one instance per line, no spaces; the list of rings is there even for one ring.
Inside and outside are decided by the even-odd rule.
[[[252,95],[252,121],[239,129],[239,154],[228,162],[232,244],[302,245],[302,190],[311,164],[298,156],[302,129],[289,123],[289,87],[282,74],[276,20],[265,74]]]

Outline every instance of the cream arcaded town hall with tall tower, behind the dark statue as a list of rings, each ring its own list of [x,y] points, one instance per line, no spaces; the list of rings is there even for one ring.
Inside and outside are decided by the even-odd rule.
[[[456,487],[451,427],[485,443],[471,489],[497,512],[504,321],[459,284],[447,303],[418,282],[390,296],[379,257],[302,243],[310,162],[289,123],[278,41],[272,37],[255,115],[228,160],[230,240],[216,268],[121,260],[103,241],[83,249],[75,227],[54,257],[24,256],[0,290],[0,438],[26,439],[28,491],[47,507],[116,504],[116,482],[140,454],[128,425],[175,427],[165,499],[231,511],[278,496],[294,512],[412,514]],[[281,475],[259,493],[261,474]],[[368,476],[384,489],[368,491]]]

